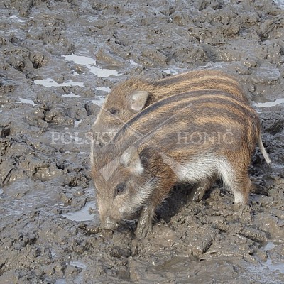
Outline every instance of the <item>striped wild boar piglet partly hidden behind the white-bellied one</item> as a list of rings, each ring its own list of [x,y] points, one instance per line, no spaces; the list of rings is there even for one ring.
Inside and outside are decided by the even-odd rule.
[[[249,104],[239,82],[218,70],[196,70],[152,82],[141,78],[131,78],[114,87],[108,94],[92,126],[92,133],[118,131],[120,126],[138,111],[159,99],[202,89],[218,89],[228,92]],[[141,107],[133,109],[131,102],[137,91],[146,92],[146,99],[145,102],[141,102]],[[111,114],[111,111],[115,114]]]

